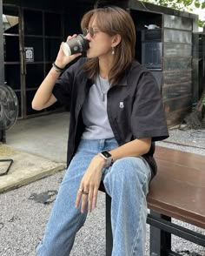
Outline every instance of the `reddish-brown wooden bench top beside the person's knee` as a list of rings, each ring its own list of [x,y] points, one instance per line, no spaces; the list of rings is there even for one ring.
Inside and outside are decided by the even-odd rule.
[[[205,157],[157,146],[155,158],[149,209],[205,228]]]

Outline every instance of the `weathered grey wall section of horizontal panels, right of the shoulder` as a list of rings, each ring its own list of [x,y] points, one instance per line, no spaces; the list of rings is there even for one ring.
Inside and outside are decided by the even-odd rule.
[[[179,123],[192,106],[192,19],[164,15],[162,98],[168,124]]]

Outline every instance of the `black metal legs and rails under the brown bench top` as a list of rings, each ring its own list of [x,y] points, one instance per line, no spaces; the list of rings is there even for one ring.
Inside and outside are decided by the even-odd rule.
[[[113,247],[110,209],[111,198],[106,193],[106,256],[111,256]],[[205,235],[175,225],[171,222],[169,216],[150,210],[147,223],[150,226],[150,256],[181,255],[171,251],[171,234],[191,241],[196,245],[205,246]]]

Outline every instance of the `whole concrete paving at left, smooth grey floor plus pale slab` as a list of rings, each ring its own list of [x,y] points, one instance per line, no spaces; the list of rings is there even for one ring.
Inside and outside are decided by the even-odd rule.
[[[7,145],[0,145],[0,159],[13,160],[12,165],[0,161],[0,172],[5,172],[10,165],[8,174],[0,176],[0,192],[64,170],[68,124],[68,113],[18,120],[7,132]]]

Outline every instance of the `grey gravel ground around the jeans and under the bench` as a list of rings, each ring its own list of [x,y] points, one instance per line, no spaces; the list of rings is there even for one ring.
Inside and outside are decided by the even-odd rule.
[[[200,137],[195,131],[169,131],[166,142],[157,145],[168,146],[186,152],[205,155],[205,131]],[[176,145],[177,144],[177,145]],[[179,145],[180,144],[180,145]],[[17,190],[0,194],[0,255],[34,256],[36,244],[42,239],[44,226],[55,199],[55,192],[63,178],[64,172],[58,172],[46,179],[38,180]],[[47,203],[36,202],[36,195],[50,191]],[[38,198],[36,198],[38,199]],[[96,210],[89,214],[85,226],[77,233],[71,256],[105,255],[105,200],[99,192]],[[176,221],[176,220],[175,220]],[[205,233],[195,226],[176,221],[182,226]],[[147,226],[146,256],[149,256],[149,226]],[[205,255],[205,248],[196,246],[173,236],[173,249],[182,255]],[[61,255],[59,255],[61,256]],[[141,256],[141,255],[138,255]]]

